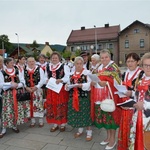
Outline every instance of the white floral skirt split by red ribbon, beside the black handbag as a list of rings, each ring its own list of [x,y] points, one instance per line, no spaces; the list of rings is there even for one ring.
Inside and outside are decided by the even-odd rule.
[[[12,128],[28,121],[30,110],[29,101],[18,102],[18,118],[16,120],[12,90],[5,91],[2,99],[2,127]]]

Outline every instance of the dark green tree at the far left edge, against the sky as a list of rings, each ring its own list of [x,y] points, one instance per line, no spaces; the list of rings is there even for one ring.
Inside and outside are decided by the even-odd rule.
[[[5,34],[0,35],[0,49],[3,49],[3,48],[6,50],[6,53],[8,54],[10,54],[14,50],[13,44],[9,42],[9,38]]]

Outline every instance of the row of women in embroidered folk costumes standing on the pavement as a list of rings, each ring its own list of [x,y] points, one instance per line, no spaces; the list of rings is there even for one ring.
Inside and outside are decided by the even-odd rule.
[[[37,117],[39,127],[43,127],[45,107],[46,121],[53,124],[50,132],[58,129],[65,131],[68,123],[78,128],[74,134],[74,137],[78,138],[83,135],[86,127],[86,140],[90,141],[91,125],[94,123],[97,128],[106,129],[107,137],[100,144],[109,150],[117,144],[116,129],[120,126],[117,149],[144,150],[142,135],[150,120],[150,53],[142,57],[141,68],[139,56],[135,53],[128,54],[126,57],[128,69],[122,77],[108,50],[102,50],[100,56],[97,54],[92,56],[89,70],[84,68],[85,61],[82,57],[75,58],[74,70],[71,73],[67,65],[61,63],[61,56],[57,52],[52,53],[50,63],[43,65],[36,65],[33,57],[27,59],[26,65],[24,65],[25,58],[20,58],[16,66],[13,59],[5,59],[5,67],[1,67],[0,72],[0,89],[3,89],[0,138],[5,135],[6,128],[12,128],[18,133],[17,125],[27,122],[29,117],[30,127],[36,125]],[[89,73],[97,74],[100,81],[98,83],[91,81]],[[56,79],[56,84],[62,83],[63,86],[59,93],[47,88],[44,104],[42,86],[51,78]],[[114,94],[116,92],[114,80],[127,87],[125,98],[119,98]],[[133,105],[134,111],[117,105],[115,111],[111,113],[101,110],[100,103],[110,97],[107,83],[112,90],[115,105],[134,98],[136,101]],[[70,86],[72,84],[75,86]],[[30,101],[19,102],[16,99],[17,91],[22,90],[23,86],[30,92]]]

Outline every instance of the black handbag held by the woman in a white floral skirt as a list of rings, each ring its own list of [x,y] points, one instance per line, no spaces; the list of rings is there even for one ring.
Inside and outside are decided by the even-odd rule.
[[[29,101],[29,100],[30,100],[30,93],[25,89],[23,84],[22,90],[17,91],[17,101]]]

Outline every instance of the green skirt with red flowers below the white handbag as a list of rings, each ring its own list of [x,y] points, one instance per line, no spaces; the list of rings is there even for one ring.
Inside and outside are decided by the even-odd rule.
[[[95,104],[95,125],[97,128],[114,130],[119,127],[115,124],[115,121],[110,112],[101,110],[100,104]]]

